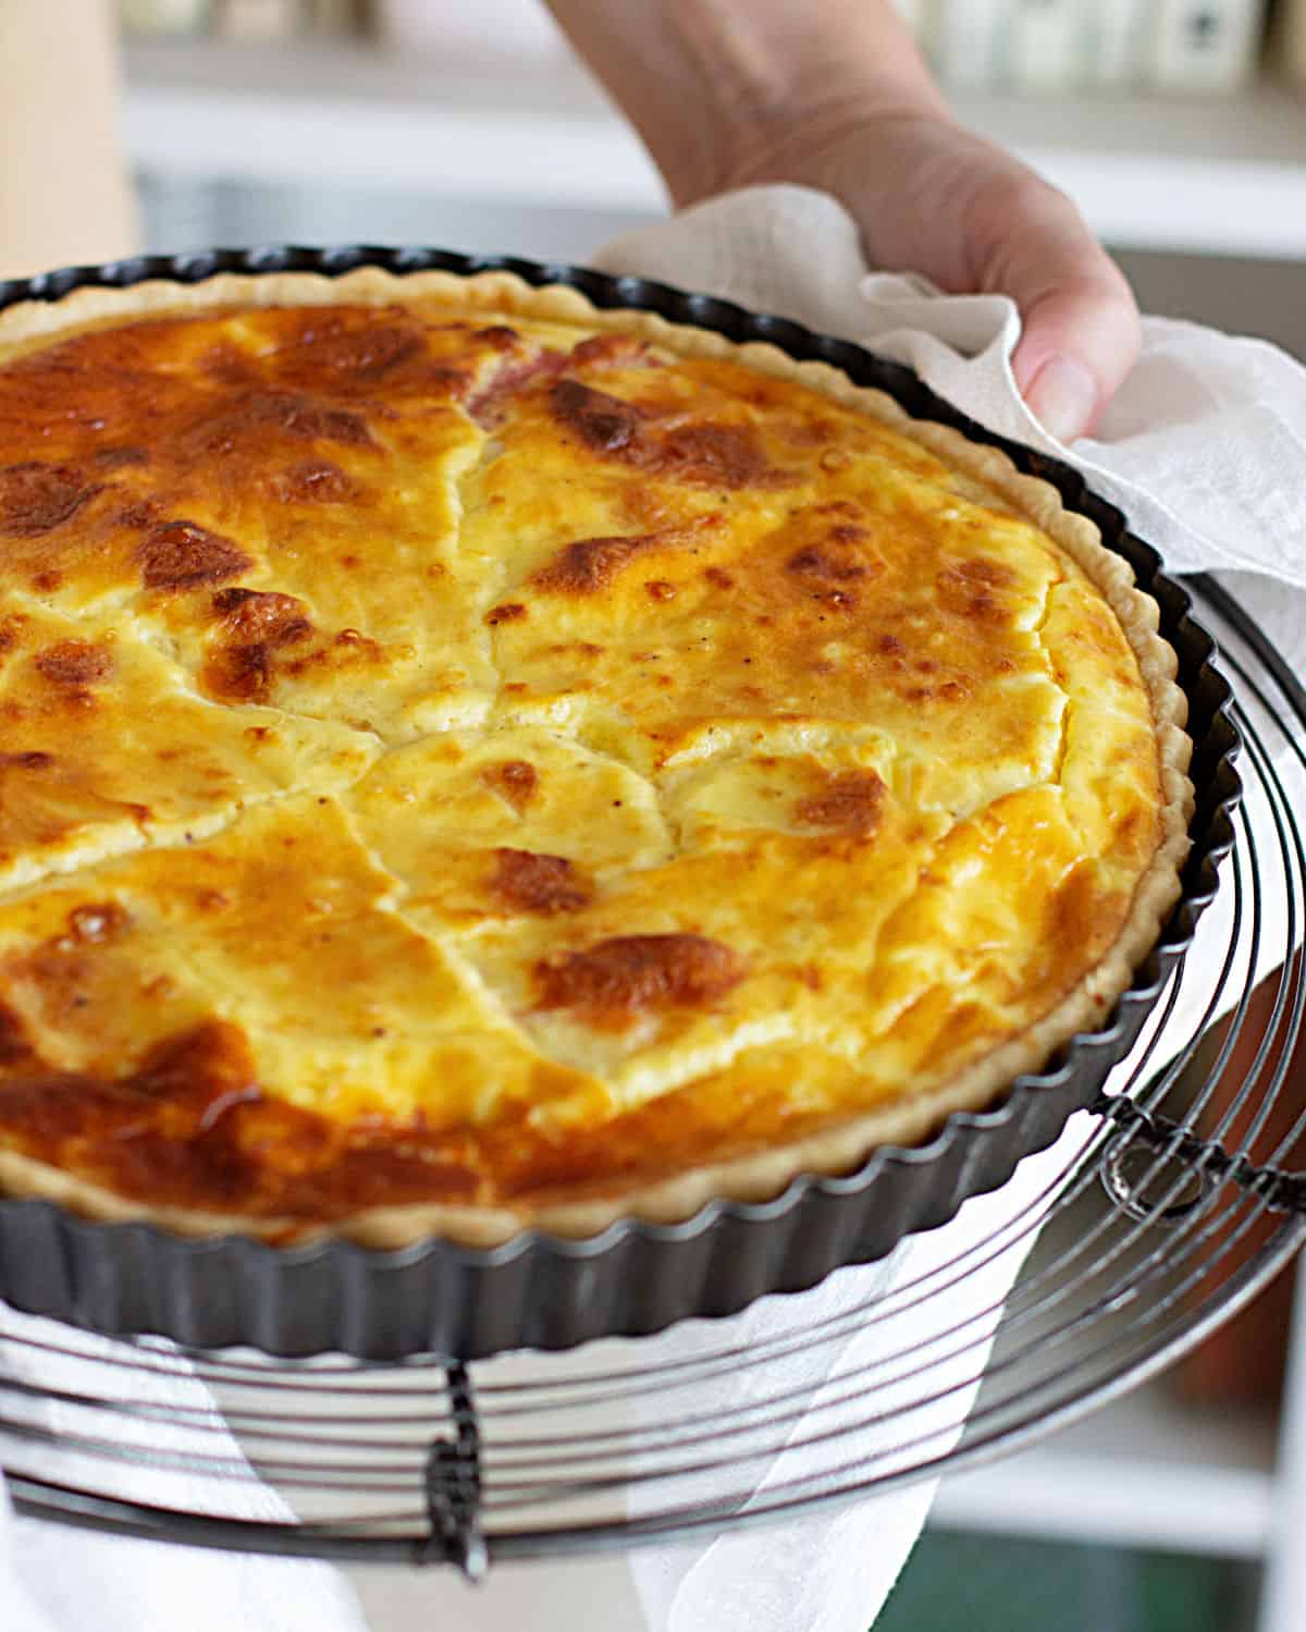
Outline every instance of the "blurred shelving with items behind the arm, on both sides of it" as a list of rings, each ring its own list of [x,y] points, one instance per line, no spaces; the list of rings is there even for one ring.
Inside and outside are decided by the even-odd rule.
[[[1303,0],[900,0],[962,118],[1065,188],[1146,310],[1306,354]],[[538,0],[121,0],[152,248],[584,258],[664,207]]]

